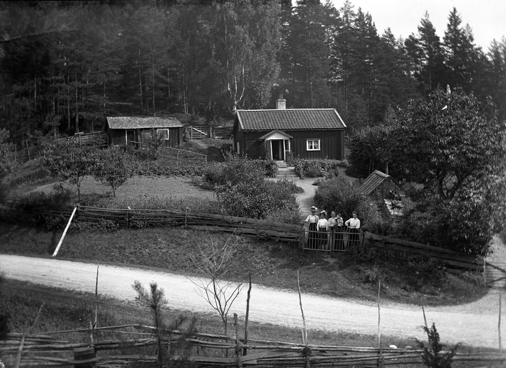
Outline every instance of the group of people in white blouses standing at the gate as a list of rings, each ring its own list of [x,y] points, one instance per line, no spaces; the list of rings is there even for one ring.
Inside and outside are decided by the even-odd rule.
[[[345,222],[341,214],[334,211],[330,213],[330,217],[326,219],[327,212],[320,211],[319,216],[316,215],[318,208],[311,207],[311,215],[308,215],[304,223],[309,224],[307,236],[307,248],[323,249],[323,250],[345,250],[358,242],[358,229],[360,229],[360,220],[357,213],[353,213],[353,217]],[[347,229],[348,241],[345,243],[343,233]]]

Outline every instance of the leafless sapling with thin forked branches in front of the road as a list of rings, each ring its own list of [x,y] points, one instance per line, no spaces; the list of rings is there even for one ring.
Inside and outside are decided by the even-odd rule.
[[[228,312],[244,283],[225,280],[225,276],[233,267],[233,244],[230,242],[232,235],[222,246],[215,244],[213,238],[209,237],[210,242],[205,248],[197,243],[197,254],[189,254],[193,264],[203,276],[201,279],[190,278],[190,281],[197,287],[197,293],[220,315],[225,335],[228,335]]]

